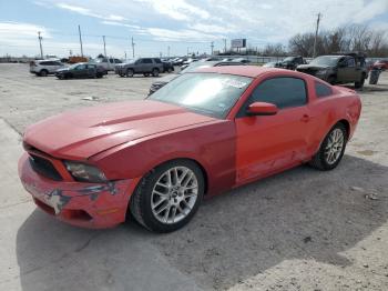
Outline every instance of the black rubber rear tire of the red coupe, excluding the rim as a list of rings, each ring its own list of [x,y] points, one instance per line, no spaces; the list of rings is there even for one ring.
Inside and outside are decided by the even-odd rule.
[[[341,149],[340,149],[340,152],[338,151],[339,155],[336,157],[334,161],[329,161],[329,154],[327,154],[327,151],[329,151],[329,150],[327,148],[329,147],[329,143],[331,141],[330,139],[333,138],[331,134],[334,134],[334,132],[341,133],[341,138],[343,138]],[[344,157],[347,141],[348,141],[347,130],[346,130],[345,126],[339,122],[336,126],[334,126],[330,129],[330,131],[327,133],[323,143],[320,144],[318,152],[313,157],[309,164],[313,168],[321,170],[321,171],[329,171],[329,170],[335,169]],[[338,146],[336,146],[336,148],[338,149]]]

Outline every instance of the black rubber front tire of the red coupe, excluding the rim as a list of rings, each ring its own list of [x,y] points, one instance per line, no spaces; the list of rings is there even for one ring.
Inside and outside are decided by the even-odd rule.
[[[172,222],[171,221],[161,222],[160,220],[161,218],[157,218],[157,213],[154,213],[156,211],[156,207],[154,208],[152,207],[152,203],[155,203],[154,202],[155,197],[153,195],[153,190],[154,188],[156,189],[156,187],[159,187],[156,185],[156,183],[162,181],[161,179],[163,179],[163,177],[165,177],[165,174],[170,170],[173,170],[175,168],[188,169],[191,173],[195,177],[196,179],[195,185],[196,185],[197,193],[194,197],[196,198],[196,200],[193,202],[194,204],[192,204],[191,208],[187,208],[190,209],[187,210],[188,212],[184,213],[183,217],[181,215],[177,222],[174,222],[174,220],[172,220]],[[190,175],[190,179],[192,179],[193,175]],[[181,182],[185,181],[185,179],[183,179]],[[161,189],[166,189],[166,188],[160,188],[157,191],[162,191]],[[197,211],[201,204],[202,198],[204,195],[204,190],[205,190],[204,177],[201,169],[195,162],[190,160],[170,161],[162,165],[156,167],[140,181],[134,193],[132,194],[131,202],[130,202],[130,211],[132,215],[135,218],[135,220],[146,229],[155,232],[172,232],[184,227],[194,217],[195,212]],[[178,209],[182,209],[183,201],[180,201],[180,202],[175,201],[175,199],[178,199],[177,190],[172,190],[172,187],[171,187],[166,189],[166,191],[167,193],[164,195],[166,195],[167,198],[164,198],[163,200],[164,202],[160,203],[160,201],[156,201],[156,203],[161,205],[160,209],[162,208],[165,209],[165,211],[161,211],[160,213],[163,217],[165,217],[166,214],[167,217],[166,220],[169,220],[169,219],[173,219],[173,218],[170,218],[170,214],[173,217],[173,213],[177,214]],[[172,191],[175,191],[176,198],[173,198],[174,193]],[[187,194],[190,195],[190,193]],[[188,199],[188,202],[191,202],[190,199],[194,199],[193,195],[185,198],[184,192],[181,193],[180,195],[181,195],[181,199]],[[178,204],[173,205],[172,203],[178,203]],[[183,207],[185,205],[187,205],[187,203],[183,203]],[[174,212],[174,208],[175,208],[175,212]],[[160,209],[157,211],[160,211]],[[183,212],[180,212],[180,214],[182,213]]]

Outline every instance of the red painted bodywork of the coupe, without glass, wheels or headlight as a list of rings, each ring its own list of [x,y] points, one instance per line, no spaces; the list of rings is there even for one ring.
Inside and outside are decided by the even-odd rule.
[[[347,121],[351,137],[359,119],[360,100],[353,90],[333,87],[331,97],[318,99],[314,82],[321,81],[312,76],[251,66],[203,71],[255,78],[225,120],[144,100],[71,111],[31,126],[24,134],[27,150],[50,160],[63,178],[53,181],[38,174],[24,154],[19,173],[37,204],[52,213],[50,203],[59,198],[47,198],[60,190],[69,202],[57,218],[81,227],[113,227],[125,220],[140,179],[163,162],[196,161],[206,177],[207,194],[219,193],[308,161],[334,124]],[[276,76],[303,78],[308,103],[275,116],[235,118],[256,86]],[[64,159],[98,167],[114,181],[115,193],[105,189],[95,198],[82,192],[99,184],[73,181]]]

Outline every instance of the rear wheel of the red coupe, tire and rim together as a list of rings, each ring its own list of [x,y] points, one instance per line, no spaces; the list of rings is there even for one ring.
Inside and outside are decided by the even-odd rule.
[[[343,123],[337,123],[327,133],[319,151],[313,157],[310,165],[328,171],[335,169],[343,159],[347,142],[347,130]]]

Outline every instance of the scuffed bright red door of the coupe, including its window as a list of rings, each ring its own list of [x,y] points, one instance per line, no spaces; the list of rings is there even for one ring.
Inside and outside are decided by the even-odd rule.
[[[253,102],[274,103],[279,111],[249,116]],[[235,119],[237,184],[300,163],[307,157],[313,120],[303,79],[279,77],[259,83]]]

